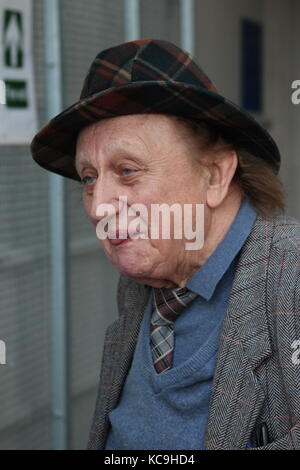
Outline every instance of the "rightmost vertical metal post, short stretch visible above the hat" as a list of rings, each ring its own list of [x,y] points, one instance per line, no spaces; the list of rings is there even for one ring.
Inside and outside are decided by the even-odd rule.
[[[192,56],[195,55],[195,3],[194,0],[180,0],[181,46]]]

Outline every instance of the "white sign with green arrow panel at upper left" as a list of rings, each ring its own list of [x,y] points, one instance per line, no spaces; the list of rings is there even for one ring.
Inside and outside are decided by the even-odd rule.
[[[32,37],[37,2],[0,0],[0,150],[30,143],[37,131]]]

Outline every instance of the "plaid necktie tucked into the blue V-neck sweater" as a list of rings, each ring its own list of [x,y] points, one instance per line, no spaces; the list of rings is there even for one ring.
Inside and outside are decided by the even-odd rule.
[[[155,309],[151,318],[151,351],[157,373],[171,369],[173,364],[173,323],[182,310],[198,294],[186,287],[154,288]]]

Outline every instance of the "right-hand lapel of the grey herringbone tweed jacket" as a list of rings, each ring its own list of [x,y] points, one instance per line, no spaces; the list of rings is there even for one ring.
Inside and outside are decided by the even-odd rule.
[[[213,381],[206,449],[243,449],[265,399],[256,368],[272,353],[266,283],[273,224],[258,216],[235,273]]]

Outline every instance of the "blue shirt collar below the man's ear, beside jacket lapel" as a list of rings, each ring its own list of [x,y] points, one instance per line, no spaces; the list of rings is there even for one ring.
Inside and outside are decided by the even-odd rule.
[[[238,213],[223,240],[188,280],[186,287],[210,300],[215,288],[242,248],[256,220],[257,212],[244,198]]]

